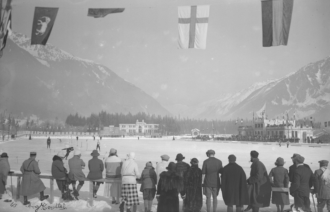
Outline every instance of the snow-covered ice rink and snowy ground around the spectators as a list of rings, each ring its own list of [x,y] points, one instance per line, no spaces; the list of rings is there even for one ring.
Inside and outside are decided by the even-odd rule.
[[[15,171],[15,173],[21,173],[19,168],[22,162],[25,159],[29,158],[30,152],[37,152],[36,160],[39,160],[39,168],[41,170],[42,175],[51,175],[51,163],[52,158],[57,152],[61,151],[63,148],[68,148],[73,146],[74,149],[79,149],[82,152],[83,161],[86,163],[85,169],[83,172],[85,176],[88,174],[88,160],[92,157],[90,156],[93,149],[96,149],[97,139],[93,141],[93,139],[89,138],[86,141],[86,138],[80,137],[78,142],[75,138],[63,138],[62,143],[59,142],[57,138],[51,138],[51,149],[47,149],[46,144],[47,138],[33,138],[32,141],[27,138],[24,139],[15,139],[10,142],[0,142],[0,149],[4,152],[8,153],[9,163],[11,166],[11,170]],[[255,150],[259,152],[259,159],[262,161],[266,168],[267,172],[275,167],[274,162],[278,157],[282,157],[286,162],[284,164],[285,168],[289,168],[292,164],[292,160],[290,159],[293,153],[298,153],[305,158],[305,163],[307,163],[311,169],[316,170],[319,168],[319,163],[317,161],[325,159],[330,160],[330,148],[329,145],[324,145],[322,147],[309,147],[308,145],[302,146],[289,146],[286,148],[286,145],[282,145],[281,147],[277,144],[252,144],[252,143],[235,143],[235,142],[201,142],[201,141],[185,141],[176,138],[175,141],[172,141],[171,138],[168,140],[159,140],[159,139],[144,139],[137,138],[134,139],[114,139],[114,138],[103,138],[101,141],[101,152],[99,159],[104,160],[104,158],[108,157],[109,150],[111,148],[115,148],[117,150],[118,157],[121,159],[126,159],[126,155],[129,152],[135,152],[136,154],[136,162],[139,167],[140,173],[147,161],[151,161],[153,166],[156,166],[156,162],[161,162],[160,156],[163,154],[167,154],[170,156],[170,161],[176,162],[175,158],[178,153],[182,153],[185,157],[183,161],[189,163],[191,158],[197,158],[199,160],[199,167],[202,168],[203,161],[207,159],[205,152],[209,149],[215,150],[215,157],[220,159],[223,163],[223,166],[228,163],[228,156],[230,154],[234,154],[237,157],[237,163],[241,165],[246,172],[247,177],[249,177],[250,173],[250,151]],[[311,144],[312,145],[312,144]],[[62,151],[64,154],[65,150]],[[73,153],[70,153],[69,159],[73,157]],[[64,160],[64,166],[69,169],[68,160]],[[103,171],[103,178],[105,178],[105,171]],[[45,194],[49,194],[49,179],[42,179],[46,186]],[[14,197],[16,198],[16,183],[17,177],[12,177],[13,191]],[[141,184],[137,185],[138,191],[140,190]],[[11,194],[11,177],[8,176],[7,186],[6,186],[8,194],[3,194],[3,198],[0,200],[0,211],[7,212],[21,212],[22,210],[26,212],[40,212],[44,210],[51,211],[102,211],[102,212],[117,212],[119,211],[119,205],[111,204],[111,199],[103,196],[104,192],[104,184],[101,184],[98,192],[97,198],[94,198],[94,206],[90,207],[88,203],[89,196],[89,182],[86,182],[82,189],[80,190],[79,200],[74,201],[63,201],[60,197],[60,191],[57,188],[57,185],[54,181],[54,202],[52,204],[49,203],[48,199],[41,202],[39,200],[40,195],[35,194],[32,196],[28,196],[28,200],[31,202],[31,205],[37,207],[26,207],[23,205],[23,196],[20,196],[19,199],[14,199],[12,202],[4,202],[4,199],[12,199]],[[140,205],[137,207],[137,211],[144,211],[144,204],[142,193],[139,193]],[[313,199],[311,197],[311,208],[314,211]],[[221,191],[218,195],[218,207],[217,211],[226,211],[227,206],[224,204]],[[315,201],[316,198],[314,197]],[[203,196],[203,207],[202,212],[206,211],[206,197]],[[293,197],[290,196],[290,203],[293,203]],[[41,204],[45,207],[39,207]],[[58,205],[61,205],[63,208],[56,208]],[[48,206],[50,206],[48,208]],[[156,198],[153,200],[153,208],[151,209],[153,212],[156,211],[157,200]],[[53,209],[51,209],[53,208]],[[246,206],[245,206],[246,208]],[[285,206],[285,209],[289,208],[289,206]],[[211,209],[212,210],[212,209]],[[235,210],[235,209],[234,209]],[[182,211],[182,199],[180,198],[180,211]],[[270,207],[260,208],[260,211],[276,211],[276,206],[271,203]]]

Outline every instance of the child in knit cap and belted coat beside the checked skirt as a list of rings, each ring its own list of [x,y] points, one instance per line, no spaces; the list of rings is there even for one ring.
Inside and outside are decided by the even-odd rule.
[[[156,195],[157,174],[155,168],[152,167],[151,161],[146,163],[146,167],[141,174],[141,188],[140,192],[143,193],[143,200],[145,206],[145,212],[150,212],[152,206],[152,200]]]

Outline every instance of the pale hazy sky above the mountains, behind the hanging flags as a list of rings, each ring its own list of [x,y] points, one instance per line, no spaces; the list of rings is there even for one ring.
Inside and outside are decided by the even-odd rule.
[[[206,4],[206,50],[179,50],[178,6]],[[13,31],[31,37],[35,7],[59,7],[48,43],[109,67],[164,106],[279,79],[330,55],[329,0],[295,0],[288,45],[277,47],[262,47],[259,0],[13,0]],[[118,7],[124,12],[87,16]]]

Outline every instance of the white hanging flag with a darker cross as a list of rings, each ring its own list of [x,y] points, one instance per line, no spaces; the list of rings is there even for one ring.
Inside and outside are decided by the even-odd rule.
[[[178,49],[206,49],[210,5],[180,6]]]

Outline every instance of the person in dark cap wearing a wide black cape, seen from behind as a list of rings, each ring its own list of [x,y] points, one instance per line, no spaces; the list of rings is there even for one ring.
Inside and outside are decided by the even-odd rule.
[[[233,211],[233,205],[236,205],[236,212],[241,212],[243,205],[250,204],[246,174],[235,161],[236,156],[230,155],[229,163],[220,170],[221,192],[223,201],[227,205],[227,212]]]

